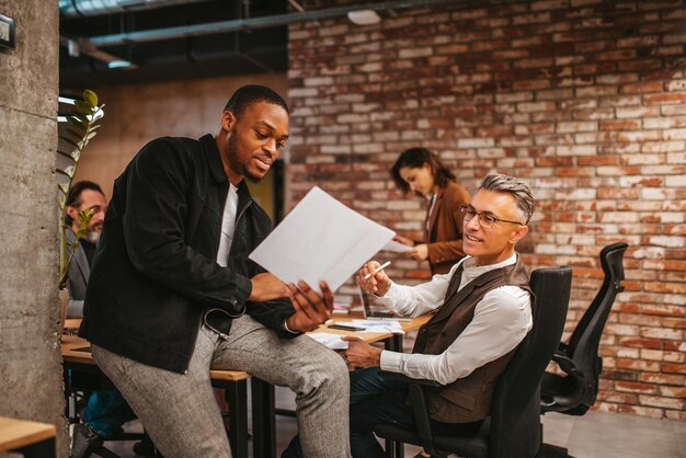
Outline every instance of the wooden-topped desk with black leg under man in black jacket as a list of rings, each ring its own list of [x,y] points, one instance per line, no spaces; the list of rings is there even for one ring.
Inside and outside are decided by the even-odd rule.
[[[69,325],[67,324],[67,328]],[[100,370],[90,352],[88,341],[77,335],[62,335],[61,352],[65,366],[65,387],[68,392],[111,390],[112,382]],[[229,442],[232,455],[248,457],[248,379],[242,370],[210,370],[215,388],[226,390],[229,403]],[[256,456],[256,455],[255,455]]]

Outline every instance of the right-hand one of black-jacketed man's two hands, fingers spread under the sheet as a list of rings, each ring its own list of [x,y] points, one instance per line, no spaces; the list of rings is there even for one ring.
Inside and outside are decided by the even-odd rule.
[[[327,282],[320,282],[322,296],[300,280],[298,289],[293,283],[288,285],[290,302],[296,312],[286,319],[286,325],[291,331],[308,332],[331,318],[333,311],[333,293]]]

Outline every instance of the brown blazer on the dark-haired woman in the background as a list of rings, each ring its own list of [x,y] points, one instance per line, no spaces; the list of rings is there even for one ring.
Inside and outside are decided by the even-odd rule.
[[[426,208],[426,224],[424,225],[424,240],[428,248],[428,266],[431,274],[447,274],[459,260],[465,257],[462,251],[462,215],[460,205],[471,201],[469,193],[459,184],[449,181],[448,185],[438,192],[434,208],[431,203]]]

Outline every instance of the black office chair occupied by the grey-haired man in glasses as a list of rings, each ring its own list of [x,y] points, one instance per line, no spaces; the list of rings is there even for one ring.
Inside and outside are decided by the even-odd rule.
[[[536,456],[541,444],[540,378],[562,336],[572,285],[572,270],[562,266],[534,271],[530,285],[536,295],[533,307],[534,328],[519,344],[514,358],[499,380],[491,403],[491,415],[476,436],[434,435],[430,427],[423,385],[437,383],[407,377],[405,379],[410,381],[410,402],[414,410],[416,431],[380,424],[374,430],[376,435],[389,440],[422,446],[432,456],[448,454],[472,458]],[[388,453],[390,451],[387,450]]]

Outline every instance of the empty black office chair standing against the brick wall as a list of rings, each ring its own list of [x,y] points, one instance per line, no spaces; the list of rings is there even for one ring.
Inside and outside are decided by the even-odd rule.
[[[601,251],[601,265],[605,273],[603,286],[572,332],[569,344],[560,343],[552,357],[564,375],[544,375],[542,413],[583,415],[595,402],[603,370],[598,345],[615,297],[624,290],[622,257],[627,248],[626,243],[614,243]]]

